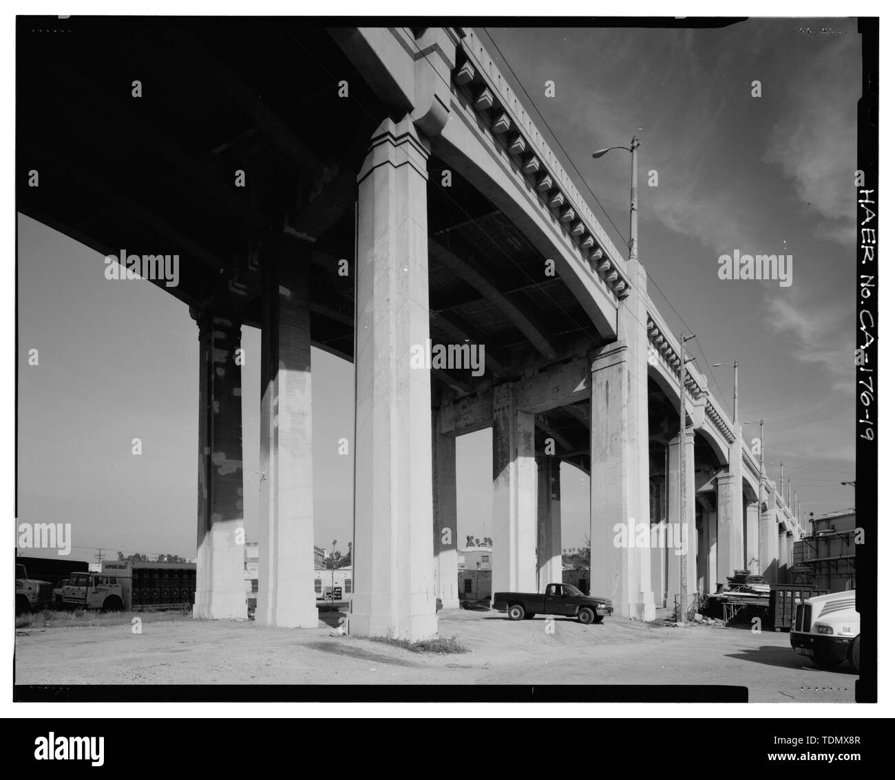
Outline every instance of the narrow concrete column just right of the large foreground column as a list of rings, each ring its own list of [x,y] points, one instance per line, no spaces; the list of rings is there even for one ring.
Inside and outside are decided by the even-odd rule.
[[[432,541],[435,593],[443,609],[459,608],[456,555],[456,438],[439,430],[432,419]]]

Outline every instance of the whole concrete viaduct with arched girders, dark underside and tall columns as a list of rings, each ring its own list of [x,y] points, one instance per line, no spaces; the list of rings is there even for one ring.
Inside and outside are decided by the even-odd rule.
[[[317,625],[311,345],[354,361],[355,634],[419,639],[436,598],[458,606],[455,443],[482,428],[495,589],[561,581],[562,461],[590,474],[591,588],[618,615],[673,606],[680,563],[619,544],[618,523],[686,525],[690,594],[778,577],[795,517],[692,365],[678,437],[681,349],[644,267],[473,30],[67,23],[23,47],[19,208],[104,255],[179,254],[165,289],[200,346],[196,616],[246,610],[244,326],[262,334],[260,623]],[[430,341],[483,344],[482,376],[414,368]]]

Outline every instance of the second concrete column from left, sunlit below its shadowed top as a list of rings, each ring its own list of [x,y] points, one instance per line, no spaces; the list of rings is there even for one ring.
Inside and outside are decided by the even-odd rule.
[[[317,628],[308,250],[281,250],[262,278],[260,523],[255,622]]]

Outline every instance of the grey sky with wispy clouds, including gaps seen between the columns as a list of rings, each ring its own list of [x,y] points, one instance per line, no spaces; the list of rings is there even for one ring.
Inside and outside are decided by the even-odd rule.
[[[800,31],[822,27],[841,33]],[[653,300],[669,326],[699,335],[698,369],[728,410],[731,369],[710,371],[706,359],[740,361],[740,418],[765,420],[765,461],[784,462],[805,512],[851,505],[840,481],[855,477],[857,22],[489,31],[618,225],[622,236],[602,220],[621,249],[629,157],[591,152],[640,137],[640,259]],[[545,97],[548,80],[555,97]],[[762,97],[752,97],[756,80]],[[784,241],[790,287],[718,278],[720,254],[775,253]],[[19,519],[72,522],[72,557],[93,547],[192,557],[197,329],[172,296],[108,281],[104,269],[98,253],[19,217]],[[243,335],[246,530],[257,538],[260,334]],[[352,460],[338,440],[353,434],[352,367],[318,350],[312,361],[315,539],[344,550]],[[461,540],[490,536],[490,469],[490,430],[462,437]],[[779,467],[769,471],[776,479]],[[589,480],[564,464],[562,494],[562,544],[577,546]]]

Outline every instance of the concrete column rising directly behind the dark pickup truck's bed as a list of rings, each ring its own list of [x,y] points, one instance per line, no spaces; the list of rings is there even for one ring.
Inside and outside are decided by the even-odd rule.
[[[516,408],[513,385],[494,388],[494,557],[491,592],[537,588],[538,474],[534,462],[534,415]]]

